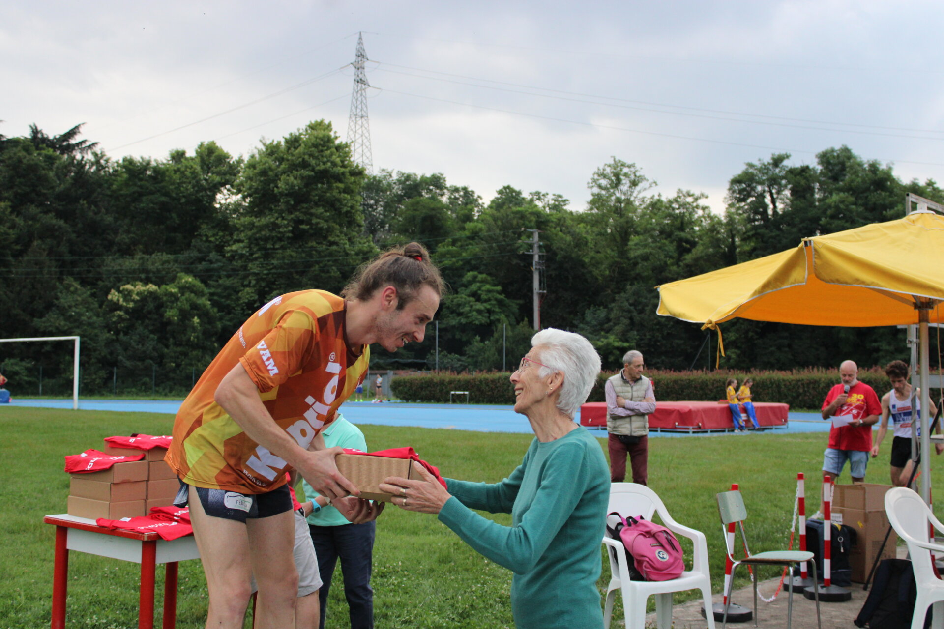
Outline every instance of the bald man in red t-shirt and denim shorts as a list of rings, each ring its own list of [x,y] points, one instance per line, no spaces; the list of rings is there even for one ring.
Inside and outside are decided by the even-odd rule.
[[[835,480],[848,460],[853,483],[861,483],[866,477],[868,454],[872,450],[872,424],[882,416],[878,395],[867,384],[859,382],[858,374],[859,368],[851,360],[839,365],[842,383],[830,389],[822,406],[822,418],[833,421],[829,447],[823,453],[823,472]]]

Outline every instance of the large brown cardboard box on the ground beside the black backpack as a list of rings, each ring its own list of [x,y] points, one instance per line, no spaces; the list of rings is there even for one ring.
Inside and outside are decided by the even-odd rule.
[[[885,533],[889,530],[888,515],[885,513],[885,491],[890,488],[891,485],[873,483],[835,486],[833,521],[850,526],[855,531],[849,556],[852,581],[866,582],[876,556],[881,559],[895,558],[898,536],[894,530],[888,536],[885,548],[882,548]]]

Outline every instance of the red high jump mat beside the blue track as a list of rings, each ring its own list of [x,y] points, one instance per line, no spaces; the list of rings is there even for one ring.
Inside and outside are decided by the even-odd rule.
[[[743,409],[743,407],[742,407]],[[786,425],[790,406],[775,402],[754,402],[757,422],[762,427]],[[606,427],[606,403],[588,402],[581,406],[581,425]],[[750,420],[748,424],[750,426]],[[653,430],[731,430],[734,422],[727,404],[717,402],[657,402],[655,412],[649,415]]]

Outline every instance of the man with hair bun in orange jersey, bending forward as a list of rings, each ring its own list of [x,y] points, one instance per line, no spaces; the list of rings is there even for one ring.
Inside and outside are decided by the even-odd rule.
[[[371,343],[422,341],[445,284],[416,242],[354,274],[341,296],[279,295],[253,313],[203,373],[174,422],[166,461],[190,505],[210,593],[207,626],[243,626],[250,577],[256,625],[294,627],[298,574],[285,472],[295,470],[348,521],[376,519],[338,472],[322,429],[362,383]],[[312,547],[312,554],[313,554]]]

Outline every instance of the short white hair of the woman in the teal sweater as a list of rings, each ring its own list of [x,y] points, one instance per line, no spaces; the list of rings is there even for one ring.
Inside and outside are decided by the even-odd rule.
[[[544,363],[538,372],[542,378],[553,372],[564,373],[564,386],[557,407],[569,417],[586,401],[597,382],[600,360],[590,341],[574,332],[548,327],[531,337],[531,347],[540,352]]]

